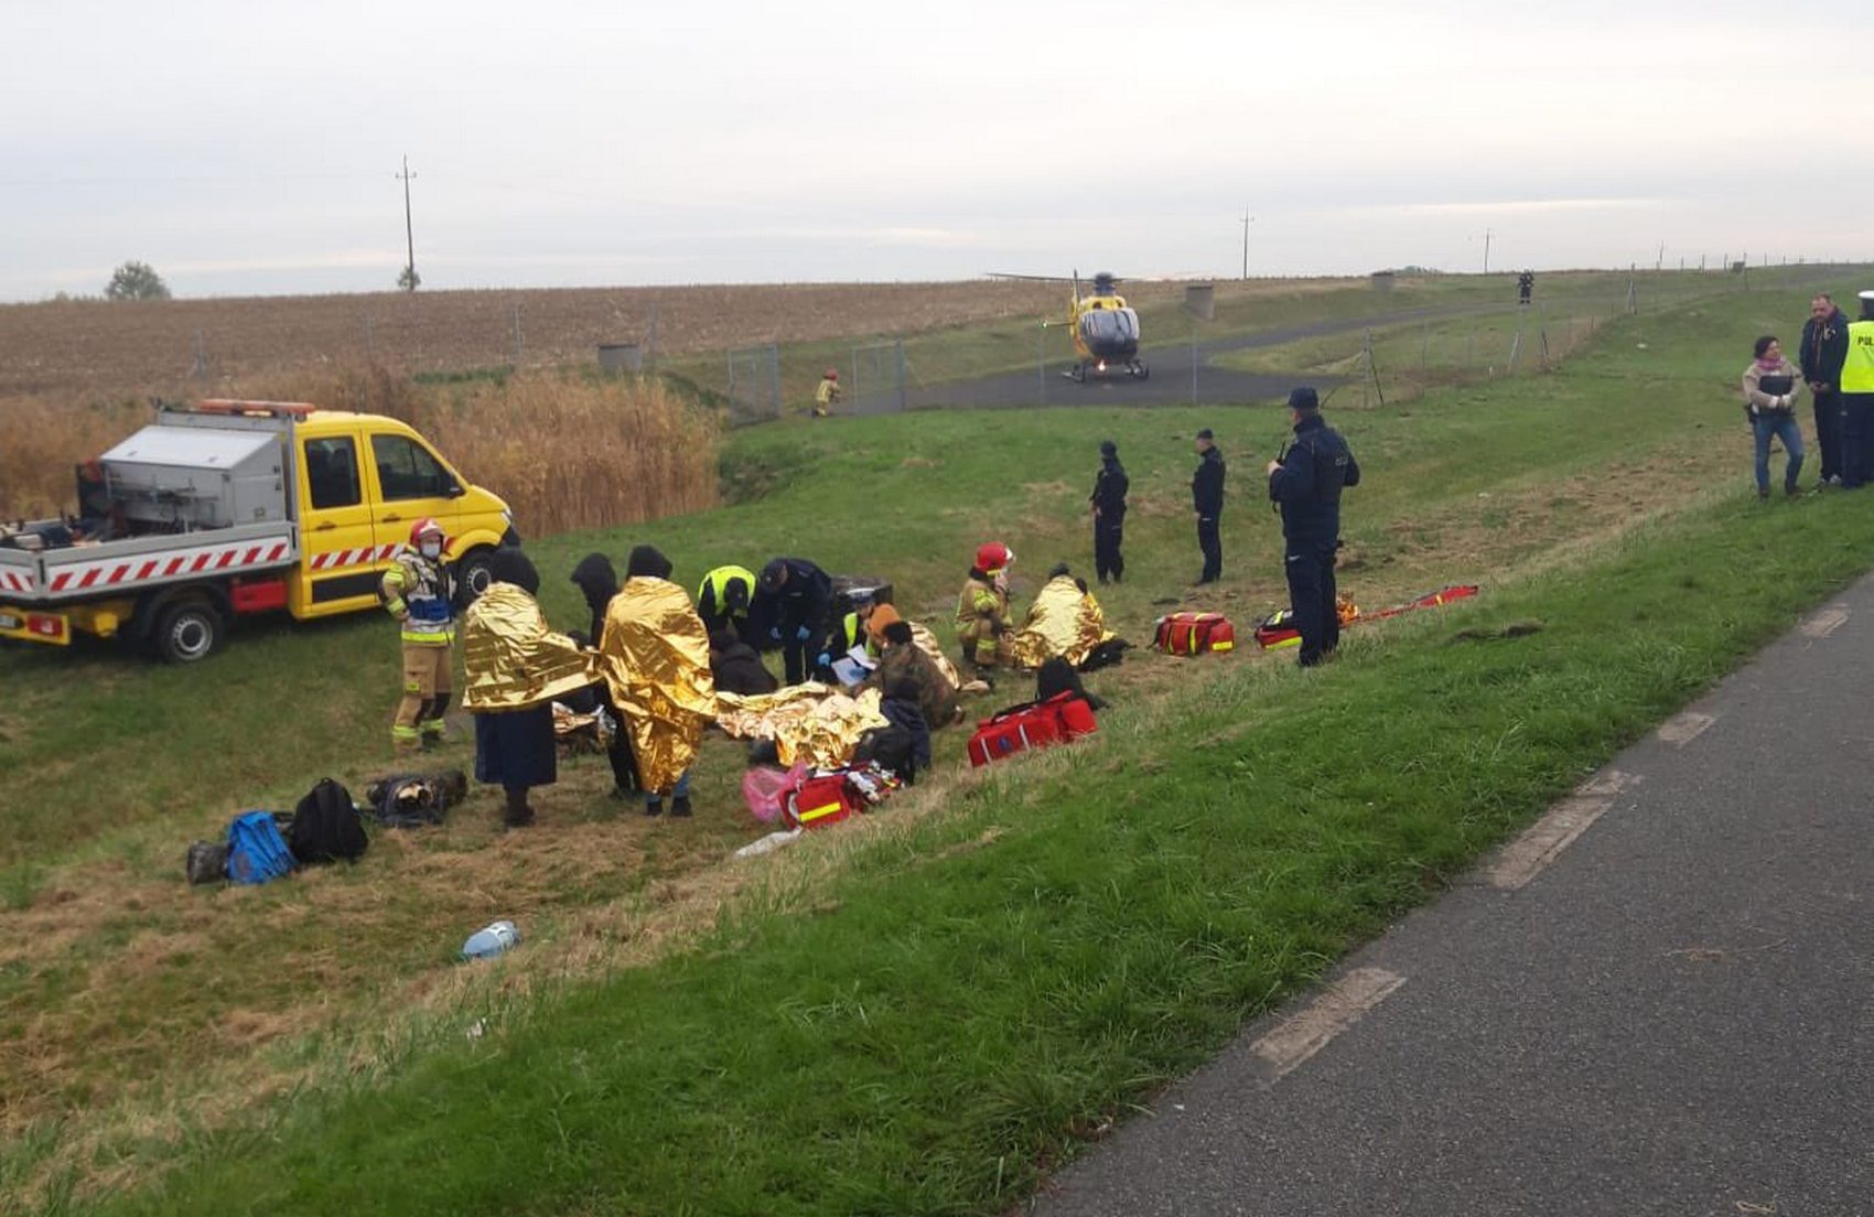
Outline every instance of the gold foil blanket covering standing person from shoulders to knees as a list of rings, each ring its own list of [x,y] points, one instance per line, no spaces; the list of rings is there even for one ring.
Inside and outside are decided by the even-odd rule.
[[[600,666],[611,701],[632,731],[647,791],[677,786],[716,716],[708,634],[690,594],[669,579],[626,579],[605,606]]]

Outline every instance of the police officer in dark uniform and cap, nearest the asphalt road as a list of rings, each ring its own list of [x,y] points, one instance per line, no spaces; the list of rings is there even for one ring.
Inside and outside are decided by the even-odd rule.
[[[1289,394],[1295,443],[1269,461],[1269,497],[1282,508],[1289,609],[1301,632],[1301,666],[1314,668],[1340,643],[1334,549],[1340,548],[1340,489],[1361,484],[1361,467],[1340,431],[1321,418],[1312,388]]]

